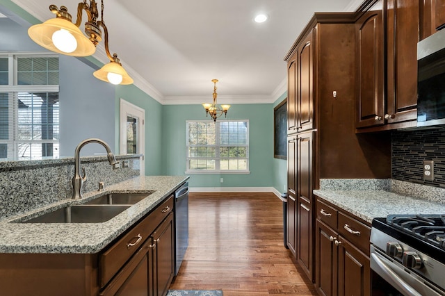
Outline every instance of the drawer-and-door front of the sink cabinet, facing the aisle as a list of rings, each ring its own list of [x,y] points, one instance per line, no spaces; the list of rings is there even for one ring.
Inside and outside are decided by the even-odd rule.
[[[115,256],[118,255],[115,249],[123,245],[128,250],[142,244],[117,274],[108,272],[113,279],[109,283],[102,281],[105,286],[99,295],[167,295],[175,268],[172,208],[173,198],[170,197],[134,227],[133,231],[137,231],[133,236],[129,236],[131,232],[128,233],[99,257],[99,274],[107,274],[111,270],[107,264],[113,267],[114,261],[125,260],[124,256]],[[148,233],[147,236],[145,233]]]

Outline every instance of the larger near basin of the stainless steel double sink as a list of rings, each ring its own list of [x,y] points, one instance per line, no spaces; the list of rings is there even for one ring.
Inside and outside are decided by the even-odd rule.
[[[66,206],[22,223],[102,223],[130,206]]]

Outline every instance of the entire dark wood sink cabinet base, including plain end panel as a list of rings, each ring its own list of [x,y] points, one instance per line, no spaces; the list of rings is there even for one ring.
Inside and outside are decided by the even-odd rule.
[[[97,254],[0,254],[1,295],[165,296],[173,279],[171,195]]]

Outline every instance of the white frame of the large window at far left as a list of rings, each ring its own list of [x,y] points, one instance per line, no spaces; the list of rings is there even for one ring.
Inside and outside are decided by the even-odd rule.
[[[0,58],[8,58],[8,84],[0,85],[0,92],[8,94],[8,118],[13,119],[13,128],[8,129],[8,140],[1,140],[0,144],[8,145],[8,158],[11,160],[38,159],[42,156],[19,157],[19,144],[58,144],[58,140],[51,139],[19,139],[18,137],[18,108],[15,107],[20,92],[38,93],[38,92],[60,92],[60,81],[58,85],[21,85],[18,84],[18,58],[59,58],[58,54],[48,54],[42,52],[0,52]],[[60,107],[59,107],[60,112]],[[60,114],[60,113],[59,113]],[[11,124],[11,120],[9,120]],[[60,122],[59,122],[60,129]],[[54,156],[58,157],[58,156]]]

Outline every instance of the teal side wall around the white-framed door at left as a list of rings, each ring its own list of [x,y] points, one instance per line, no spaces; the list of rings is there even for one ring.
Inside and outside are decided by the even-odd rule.
[[[162,174],[161,135],[163,133],[162,109],[163,106],[135,85],[117,85],[115,93],[115,138],[116,147],[119,147],[119,113],[120,99],[129,101],[145,110],[145,175],[153,176]],[[117,148],[118,149],[118,148]],[[182,172],[182,175],[184,172]]]

